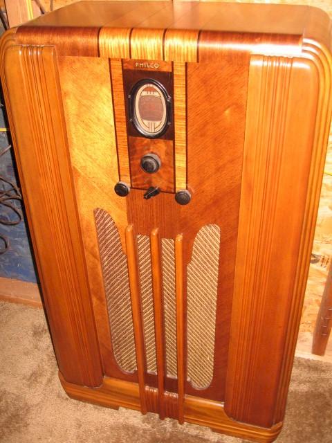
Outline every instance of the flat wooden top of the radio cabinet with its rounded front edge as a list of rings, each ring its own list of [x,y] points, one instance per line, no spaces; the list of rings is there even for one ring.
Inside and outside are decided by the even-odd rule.
[[[76,46],[91,46],[93,39],[100,39],[102,28],[111,30],[113,37],[127,30],[129,39],[131,30],[141,30],[141,35],[146,33],[150,40],[157,30],[178,33],[183,41],[185,33],[196,31],[199,46],[205,44],[208,33],[213,35],[214,44],[227,39],[230,44],[242,42],[242,47],[246,41],[251,45],[263,42],[262,35],[265,42],[273,41],[275,46],[294,42],[298,45],[306,38],[331,50],[331,23],[326,12],[310,6],[218,1],[80,1],[20,26],[17,42],[57,44],[61,51],[60,46],[69,37],[76,41]],[[93,55],[93,51],[85,51],[84,55]]]

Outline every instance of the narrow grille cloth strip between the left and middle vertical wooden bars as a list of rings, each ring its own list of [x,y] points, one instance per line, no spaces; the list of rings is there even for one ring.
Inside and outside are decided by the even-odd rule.
[[[137,236],[140,296],[142,298],[145,354],[148,372],[157,372],[156,338],[154,334],[154,298],[152,293],[150,240],[147,235]]]

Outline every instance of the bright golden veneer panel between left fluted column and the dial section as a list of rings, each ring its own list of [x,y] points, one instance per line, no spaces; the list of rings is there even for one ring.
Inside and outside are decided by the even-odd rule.
[[[113,188],[119,179],[108,60],[59,57],[64,118],[84,243],[93,311],[104,373],[123,377],[113,356],[93,211],[103,208],[115,221],[125,251],[125,201]],[[93,78],[89,88],[86,85]],[[98,131],[91,130],[98,128]],[[136,381],[137,376],[132,376]]]

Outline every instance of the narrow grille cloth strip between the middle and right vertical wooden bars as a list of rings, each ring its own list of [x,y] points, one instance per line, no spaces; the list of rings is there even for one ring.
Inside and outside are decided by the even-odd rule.
[[[163,296],[165,311],[167,377],[177,376],[176,368],[176,300],[174,240],[161,240],[163,255]]]

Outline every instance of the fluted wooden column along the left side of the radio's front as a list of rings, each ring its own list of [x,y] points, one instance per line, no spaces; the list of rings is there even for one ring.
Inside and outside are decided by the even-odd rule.
[[[102,370],[54,48],[7,46],[1,80],[59,368],[68,381],[99,386]],[[32,214],[43,222],[33,223]]]

